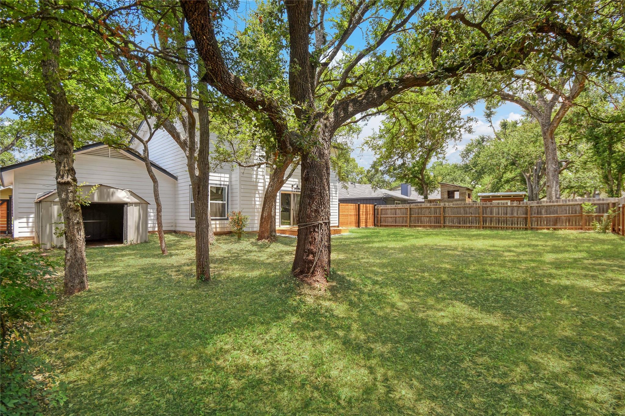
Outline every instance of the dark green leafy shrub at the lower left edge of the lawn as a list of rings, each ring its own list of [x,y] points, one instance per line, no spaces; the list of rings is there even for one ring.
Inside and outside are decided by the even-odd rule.
[[[51,275],[60,266],[41,251],[0,240],[0,414],[37,415],[64,401],[50,366],[29,352],[29,333],[50,320]]]

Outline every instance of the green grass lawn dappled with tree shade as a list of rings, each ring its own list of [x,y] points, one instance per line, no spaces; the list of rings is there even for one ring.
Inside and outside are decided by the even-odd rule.
[[[625,412],[625,239],[355,229],[332,285],[289,277],[295,239],[87,251],[37,350],[75,415],[615,415]]]

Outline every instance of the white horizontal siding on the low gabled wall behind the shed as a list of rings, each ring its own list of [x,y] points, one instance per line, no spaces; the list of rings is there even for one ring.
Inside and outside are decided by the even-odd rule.
[[[106,157],[83,152],[74,161],[78,183],[104,184],[130,189],[148,201],[148,229],[156,230],[156,204],[151,179],[145,164],[130,158]],[[174,229],[174,189],[176,181],[154,171],[159,180],[163,204],[163,227]],[[37,194],[56,190],[54,162],[46,161],[24,166],[14,171],[14,227],[15,237],[34,235],[35,206]]]

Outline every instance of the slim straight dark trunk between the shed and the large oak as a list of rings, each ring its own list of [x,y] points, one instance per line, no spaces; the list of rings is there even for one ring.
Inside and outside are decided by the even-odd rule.
[[[200,84],[206,83],[200,82]],[[210,246],[215,242],[215,235],[211,226],[210,210],[210,143],[211,129],[210,117],[206,106],[206,96],[200,99],[197,114],[199,116],[199,147],[197,149],[197,174],[193,172],[191,188],[196,210],[196,279],[211,280]],[[189,172],[191,174],[191,172]]]

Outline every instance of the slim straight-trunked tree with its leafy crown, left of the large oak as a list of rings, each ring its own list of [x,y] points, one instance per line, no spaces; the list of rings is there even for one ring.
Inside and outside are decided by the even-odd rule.
[[[99,4],[106,19],[88,14],[85,25],[113,49],[136,99],[184,152],[196,210],[196,279],[210,280],[209,247],[214,234],[209,209],[209,112],[215,109],[206,83],[196,81],[204,69],[187,47],[185,19],[174,6],[169,2],[142,2],[119,11]],[[141,31],[128,27],[133,20],[126,9],[131,14],[139,12],[150,25]],[[153,39],[148,46],[139,41],[146,33]]]

